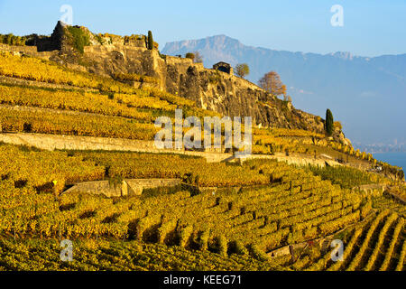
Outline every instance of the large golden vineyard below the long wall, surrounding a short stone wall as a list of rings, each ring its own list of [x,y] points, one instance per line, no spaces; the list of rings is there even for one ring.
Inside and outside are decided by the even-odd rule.
[[[3,146],[3,150],[8,155],[14,155],[14,163],[21,162],[20,166],[26,163],[27,170],[35,167],[33,163],[36,159],[49,157],[48,165],[42,165],[39,172],[32,172],[32,179],[22,180],[24,171],[16,171],[11,166],[2,171],[2,191],[6,193],[2,193],[1,199],[1,229],[16,238],[136,239],[209,250],[222,256],[250,254],[263,260],[267,259],[265,253],[272,248],[334,233],[363,219],[370,210],[354,192],[342,190],[288,164],[263,160],[249,161],[243,167],[222,164],[226,171],[217,175],[214,172],[218,171],[219,164],[195,158],[183,159],[184,172],[188,172],[187,163],[200,163],[194,173],[207,185],[218,185],[214,175],[221,180],[227,179],[227,173],[231,173],[230,178],[233,178],[232,174],[234,178],[245,175],[246,180],[239,180],[245,188],[239,190],[230,188],[227,183],[229,189],[197,195],[192,195],[190,191],[177,191],[155,197],[113,200],[70,193],[55,199],[54,195],[47,193],[54,188],[41,186],[35,176],[49,173],[58,156],[57,162],[69,159],[69,167],[78,168],[73,171],[78,175],[60,168],[61,180],[71,182],[79,180],[80,176],[100,178],[105,167],[90,161],[90,156],[95,159],[97,153],[24,152],[10,145]],[[103,153],[99,154],[103,159]],[[117,153],[104,154],[115,157]],[[88,155],[88,158],[83,158],[83,155]],[[145,156],[140,154],[136,158],[135,154],[133,159],[127,159],[126,166],[139,168],[141,171],[135,169],[133,173],[143,174],[137,177],[156,177],[151,173],[156,173],[153,165],[160,156],[153,156],[151,163],[146,162]],[[174,157],[161,156],[162,160],[168,160],[167,167],[160,162],[164,172],[161,177],[167,177],[165,173],[175,172],[175,167],[180,166],[180,163],[170,161]],[[6,158],[4,161],[6,163]],[[143,165],[135,165],[137,162]],[[84,175],[85,172],[88,176]],[[115,168],[113,172],[117,173]],[[51,180],[52,177],[42,182],[47,184]],[[251,187],[254,183],[260,186]]]

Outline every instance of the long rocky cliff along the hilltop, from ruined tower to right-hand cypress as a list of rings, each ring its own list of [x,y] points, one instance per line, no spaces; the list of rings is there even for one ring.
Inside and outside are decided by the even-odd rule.
[[[159,79],[156,84],[159,89],[192,99],[198,107],[229,117],[251,116],[255,126],[324,131],[320,117],[272,97],[254,83],[219,70],[205,69],[201,63],[193,63],[190,59],[161,55],[156,49],[147,50],[143,35],[96,35],[86,27],[76,28],[88,35],[83,53],[75,51],[69,27],[58,23],[50,38],[56,43],[50,47],[59,47],[60,52],[51,60],[111,77],[126,73]],[[337,137],[337,140],[343,143],[345,138]]]

